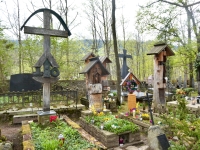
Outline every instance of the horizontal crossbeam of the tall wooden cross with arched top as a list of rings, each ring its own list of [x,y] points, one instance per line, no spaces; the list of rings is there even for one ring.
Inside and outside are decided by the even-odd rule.
[[[35,27],[24,27],[24,33],[27,34],[37,34],[37,35],[50,35],[55,37],[68,37],[67,31],[44,29],[44,28],[35,28]]]

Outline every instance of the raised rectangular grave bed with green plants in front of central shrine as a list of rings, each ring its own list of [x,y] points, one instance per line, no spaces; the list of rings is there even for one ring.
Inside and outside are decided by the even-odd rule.
[[[107,148],[119,146],[120,138],[123,138],[123,144],[140,141],[137,125],[124,119],[115,118],[113,115],[104,115],[103,112],[80,118],[79,123],[83,129]]]

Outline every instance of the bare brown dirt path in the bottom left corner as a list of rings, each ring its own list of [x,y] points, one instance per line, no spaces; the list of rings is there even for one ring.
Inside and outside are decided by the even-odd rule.
[[[8,141],[13,143],[13,150],[22,150],[21,124],[11,122],[0,123],[1,135],[6,136]]]

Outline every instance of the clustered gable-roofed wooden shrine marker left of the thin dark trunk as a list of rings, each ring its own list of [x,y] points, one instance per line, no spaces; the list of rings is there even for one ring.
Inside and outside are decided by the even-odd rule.
[[[95,57],[93,53],[88,53],[82,60],[85,61],[85,67],[80,74],[86,77],[89,107],[93,106],[96,110],[102,110],[102,92],[107,90],[107,76],[110,74],[106,69],[106,63],[111,63],[111,61],[106,57]]]

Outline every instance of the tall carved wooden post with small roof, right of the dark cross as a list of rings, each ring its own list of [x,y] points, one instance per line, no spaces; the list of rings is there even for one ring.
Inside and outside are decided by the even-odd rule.
[[[175,55],[170,47],[165,43],[155,44],[153,49],[147,55],[154,55],[154,86],[153,86],[153,102],[155,109],[158,105],[164,105],[165,89],[166,89],[166,61],[168,56]]]

